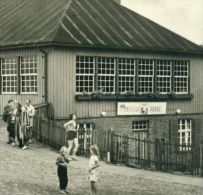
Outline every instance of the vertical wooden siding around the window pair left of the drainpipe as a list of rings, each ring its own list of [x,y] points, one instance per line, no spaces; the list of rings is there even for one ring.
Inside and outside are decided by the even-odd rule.
[[[38,93],[37,94],[0,94],[0,114],[3,112],[3,108],[9,99],[16,99],[20,103],[24,104],[27,98],[31,99],[32,103],[43,102],[44,95],[44,59],[42,53],[38,50],[24,49],[24,50],[8,50],[0,51],[0,58],[4,57],[18,57],[18,56],[30,56],[37,55],[37,71],[38,71]]]

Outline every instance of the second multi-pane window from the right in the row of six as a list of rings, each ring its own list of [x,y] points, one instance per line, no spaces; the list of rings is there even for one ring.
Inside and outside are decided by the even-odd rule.
[[[171,92],[172,62],[169,60],[158,60],[156,67],[157,92]]]

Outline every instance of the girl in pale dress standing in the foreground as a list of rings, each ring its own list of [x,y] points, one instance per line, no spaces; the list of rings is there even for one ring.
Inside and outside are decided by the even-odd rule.
[[[90,147],[90,161],[89,161],[89,181],[91,184],[92,194],[97,193],[96,181],[98,181],[98,167],[99,167],[99,149],[97,145]]]

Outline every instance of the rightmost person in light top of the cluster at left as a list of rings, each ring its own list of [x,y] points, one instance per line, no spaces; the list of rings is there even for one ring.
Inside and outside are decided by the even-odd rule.
[[[30,99],[27,99],[25,101],[26,103],[26,106],[25,106],[25,109],[28,113],[28,116],[29,116],[29,143],[32,142],[32,129],[33,129],[33,123],[34,123],[34,115],[35,115],[35,108],[34,106],[31,104],[31,100]]]

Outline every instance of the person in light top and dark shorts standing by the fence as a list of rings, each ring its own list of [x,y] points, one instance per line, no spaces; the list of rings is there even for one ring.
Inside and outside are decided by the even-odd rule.
[[[66,130],[66,136],[65,136],[65,144],[67,144],[68,141],[68,149],[67,149],[67,155],[69,160],[77,160],[76,159],[76,153],[78,151],[78,138],[77,138],[77,129],[76,129],[76,115],[71,114],[70,115],[70,121],[64,124],[64,128]],[[73,150],[71,155],[71,150]]]

